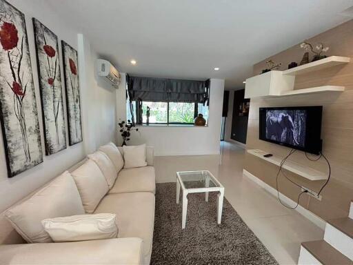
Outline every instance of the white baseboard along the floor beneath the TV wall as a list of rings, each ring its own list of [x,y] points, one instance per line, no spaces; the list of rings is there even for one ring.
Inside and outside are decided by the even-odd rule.
[[[258,177],[252,175],[248,170],[243,169],[243,175],[254,181],[256,184],[264,188],[268,193],[271,193],[275,197],[277,197],[277,190],[275,188],[272,188],[270,185],[259,179]],[[281,201],[284,202],[285,204],[288,204],[288,206],[295,206],[296,202],[294,202],[292,199],[288,198],[287,196],[283,195],[282,193],[279,193],[281,196]],[[319,216],[315,215],[314,213],[310,212],[310,210],[305,209],[303,206],[299,205],[295,209],[298,213],[303,215],[305,218],[309,219],[311,222],[316,224],[316,226],[319,226],[321,229],[325,229],[326,222],[325,220],[321,219]]]

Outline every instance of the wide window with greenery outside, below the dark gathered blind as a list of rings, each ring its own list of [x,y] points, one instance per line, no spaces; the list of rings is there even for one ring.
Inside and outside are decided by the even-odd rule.
[[[201,113],[208,121],[208,106],[187,102],[142,101],[142,123],[147,124],[147,110],[150,108],[149,124],[194,124],[194,118]],[[127,119],[139,123],[139,104],[126,102]]]

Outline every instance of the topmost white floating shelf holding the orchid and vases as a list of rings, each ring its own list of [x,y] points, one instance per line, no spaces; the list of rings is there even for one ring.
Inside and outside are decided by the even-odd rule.
[[[338,66],[343,63],[349,63],[350,57],[341,56],[330,56],[318,61],[312,61],[311,63],[304,64],[303,66],[297,66],[282,72],[283,75],[300,75],[306,72],[312,72],[321,70],[323,68],[329,68],[332,66]]]

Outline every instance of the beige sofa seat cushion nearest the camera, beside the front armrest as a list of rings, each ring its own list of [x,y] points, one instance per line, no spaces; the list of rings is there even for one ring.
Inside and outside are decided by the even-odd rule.
[[[118,237],[143,239],[143,255],[152,251],[154,195],[152,193],[114,193],[106,195],[94,213],[115,213]]]

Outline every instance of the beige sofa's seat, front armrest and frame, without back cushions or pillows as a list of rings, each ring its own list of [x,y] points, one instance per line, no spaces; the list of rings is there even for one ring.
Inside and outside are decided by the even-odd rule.
[[[117,238],[26,244],[6,219],[5,210],[0,213],[0,264],[150,264],[156,189],[152,147],[146,148],[146,160],[147,166],[121,169],[114,186],[94,210],[117,215]]]

